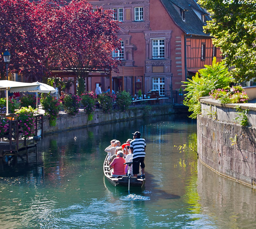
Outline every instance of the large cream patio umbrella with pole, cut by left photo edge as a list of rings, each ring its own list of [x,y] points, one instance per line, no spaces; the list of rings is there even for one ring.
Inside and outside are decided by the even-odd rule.
[[[0,90],[6,90],[6,115],[8,114],[8,90],[10,92],[31,92],[39,87],[37,83],[23,83],[11,80],[0,80]]]

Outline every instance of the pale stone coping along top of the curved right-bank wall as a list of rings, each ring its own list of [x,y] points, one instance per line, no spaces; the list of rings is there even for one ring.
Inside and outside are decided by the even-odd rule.
[[[204,103],[207,105],[213,105],[216,107],[223,107],[223,108],[234,108],[237,105],[240,106],[241,109],[249,109],[256,111],[256,104],[255,103],[220,103],[218,100],[210,99],[209,96],[207,97],[200,97],[200,103]]]

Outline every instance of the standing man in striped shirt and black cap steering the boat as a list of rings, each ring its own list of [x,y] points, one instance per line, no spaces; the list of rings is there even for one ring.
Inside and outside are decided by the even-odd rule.
[[[133,154],[133,176],[137,177],[137,174],[139,174],[139,167],[141,167],[141,177],[144,179],[146,141],[140,136],[141,133],[139,131],[136,131],[133,134],[133,140],[130,142],[130,150]]]

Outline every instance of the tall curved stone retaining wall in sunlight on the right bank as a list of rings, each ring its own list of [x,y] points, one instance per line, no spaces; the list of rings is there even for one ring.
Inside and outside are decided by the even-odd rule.
[[[216,173],[256,188],[256,107],[249,109],[250,126],[234,123],[233,104],[220,104],[209,98],[200,99],[202,115],[197,119],[198,156]],[[211,107],[211,108],[210,108]],[[210,112],[214,111],[214,112]]]

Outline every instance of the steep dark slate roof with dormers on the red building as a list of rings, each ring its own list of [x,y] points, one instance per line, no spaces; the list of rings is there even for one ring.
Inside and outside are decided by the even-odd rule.
[[[205,19],[211,20],[208,13],[197,4],[197,0],[160,0],[165,6],[167,12],[170,14],[175,23],[186,33],[193,35],[209,36],[203,32],[205,23],[201,21],[197,14],[193,11],[195,9],[201,14],[205,14]],[[174,5],[181,10],[185,10],[185,21],[182,20],[180,12],[178,12]]]

